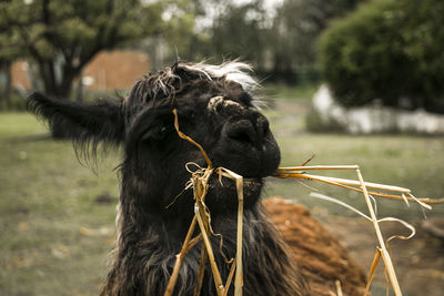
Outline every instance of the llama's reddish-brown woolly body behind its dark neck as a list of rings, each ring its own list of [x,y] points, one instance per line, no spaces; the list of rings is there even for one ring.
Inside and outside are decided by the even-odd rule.
[[[307,278],[313,295],[363,295],[365,273],[345,247],[302,205],[283,198],[263,202],[269,218],[281,232]]]

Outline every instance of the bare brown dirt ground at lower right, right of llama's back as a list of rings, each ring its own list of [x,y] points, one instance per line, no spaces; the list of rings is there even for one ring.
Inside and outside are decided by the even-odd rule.
[[[349,249],[350,255],[369,271],[374,257],[376,236],[371,223],[364,218],[330,215],[325,212],[313,213],[323,225]],[[444,218],[443,221],[444,222]],[[427,233],[421,222],[413,224],[416,235],[408,239],[393,239],[390,251],[400,280],[403,295],[442,296],[444,295],[444,241]],[[382,225],[384,237],[408,231],[396,222]],[[380,262],[373,282],[373,295],[385,295],[386,280]],[[391,294],[393,295],[393,294]]]

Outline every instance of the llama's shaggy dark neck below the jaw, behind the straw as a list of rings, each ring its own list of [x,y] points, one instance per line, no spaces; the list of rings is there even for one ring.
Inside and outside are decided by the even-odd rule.
[[[192,220],[192,192],[178,198],[174,203],[176,208],[172,211],[180,215],[173,215],[164,206],[165,198],[171,198],[173,194],[169,192],[170,196],[158,195],[162,192],[148,191],[149,183],[134,183],[137,180],[131,178],[123,181],[118,247],[103,295],[139,295],[141,292],[145,295],[162,295]],[[236,203],[235,194],[222,196],[208,196],[208,202],[213,200],[220,204],[230,198]],[[306,288],[287,247],[263,215],[262,205],[256,202],[258,196],[250,197],[253,198],[252,204],[244,208],[243,220],[244,295],[306,295],[297,293]],[[189,213],[184,212],[186,210]],[[226,280],[229,268],[225,268],[221,249],[229,258],[235,256],[236,212],[211,214],[212,228],[215,234],[221,234],[212,235],[211,244],[222,279]],[[184,257],[176,295],[193,295],[200,262],[201,245],[198,244]],[[205,268],[201,295],[215,295],[210,266]]]

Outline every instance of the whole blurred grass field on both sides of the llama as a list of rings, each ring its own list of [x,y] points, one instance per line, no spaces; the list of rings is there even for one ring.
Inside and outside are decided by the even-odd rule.
[[[301,164],[315,153],[313,164],[360,164],[366,181],[443,197],[444,137],[310,134],[303,130],[305,108],[284,102],[268,111],[282,165]],[[49,139],[33,116],[0,113],[0,296],[98,294],[113,243],[118,164],[118,153],[111,152],[99,160],[94,174],[79,164],[69,142]],[[307,185],[363,208],[357,194]],[[265,194],[344,212],[311,200],[311,191],[293,181],[270,180]],[[111,198],[99,202],[99,195]],[[380,203],[379,213],[421,218],[416,206],[397,202]],[[428,215],[443,213],[444,206],[436,206]]]

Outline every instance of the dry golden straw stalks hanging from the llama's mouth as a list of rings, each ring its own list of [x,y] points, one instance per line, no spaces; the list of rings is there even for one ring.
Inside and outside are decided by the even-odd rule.
[[[194,245],[196,245],[200,241],[203,241],[203,246],[201,251],[201,263],[199,267],[199,274],[198,274],[198,283],[194,288],[194,295],[199,296],[201,288],[202,288],[202,282],[203,282],[203,275],[205,271],[205,264],[206,264],[206,258],[210,261],[210,267],[213,274],[213,279],[214,279],[214,285],[215,285],[215,290],[218,293],[218,296],[225,296],[228,295],[228,292],[230,289],[230,285],[232,282],[232,278],[234,276],[234,295],[235,296],[241,296],[242,295],[242,285],[243,285],[243,272],[242,272],[242,217],[243,217],[243,178],[241,175],[231,172],[230,170],[226,170],[224,167],[213,167],[213,164],[211,163],[210,159],[208,157],[205,151],[202,149],[202,146],[196,143],[194,140],[189,137],[188,135],[183,134],[180,129],[179,129],[179,120],[178,120],[178,113],[176,110],[173,110],[174,113],[174,126],[175,130],[179,134],[180,137],[183,140],[189,141],[193,145],[195,145],[202,153],[203,157],[206,161],[206,167],[201,167],[195,163],[188,163],[186,164],[186,170],[191,173],[191,178],[190,182],[186,184],[185,190],[193,188],[193,196],[194,196],[194,217],[191,222],[191,225],[189,227],[188,234],[185,236],[185,241],[183,242],[183,246],[181,252],[176,255],[175,264],[173,267],[173,273],[170,277],[170,280],[168,283],[164,296],[171,296],[175,282],[178,279],[178,275],[180,272],[180,268],[182,266],[183,259],[188,251],[190,251]],[[376,266],[380,262],[380,258],[383,258],[384,265],[385,265],[385,271],[389,275],[390,283],[392,285],[392,288],[395,293],[396,296],[401,296],[401,287],[395,274],[395,268],[392,263],[392,258],[390,256],[390,253],[387,251],[387,244],[389,241],[392,238],[402,238],[402,239],[408,239],[415,234],[415,229],[412,225],[408,223],[393,218],[393,217],[386,217],[386,218],[381,218],[377,220],[374,205],[372,204],[372,200],[376,204],[374,197],[382,197],[382,198],[391,198],[391,200],[398,200],[398,201],[404,201],[408,205],[408,201],[414,201],[420,204],[420,206],[425,207],[427,210],[431,210],[432,206],[431,204],[438,204],[443,203],[444,198],[441,200],[431,200],[431,198],[416,198],[411,190],[404,188],[404,187],[398,187],[398,186],[391,186],[391,185],[383,185],[383,184],[376,184],[376,183],[370,183],[370,182],[364,182],[364,178],[361,174],[360,166],[359,165],[315,165],[315,166],[307,166],[306,164],[313,159],[309,159],[305,161],[302,165],[300,166],[292,166],[292,167],[280,167],[278,171],[273,174],[274,177],[279,178],[295,178],[295,180],[311,180],[311,181],[317,181],[322,183],[326,183],[330,185],[335,185],[340,186],[346,190],[355,191],[363,193],[367,208],[369,208],[369,215],[360,212],[359,210],[354,208],[353,206],[341,202],[336,198],[325,196],[319,193],[312,193],[311,196],[317,197],[317,198],[323,198],[327,200],[334,203],[337,203],[342,206],[345,206],[355,213],[360,214],[361,216],[367,218],[373,223],[373,227],[376,233],[379,246],[376,247],[376,253],[373,259],[373,264],[370,268],[369,276],[367,276],[367,284],[366,284],[366,289],[365,294],[367,295],[370,290],[370,286],[374,276],[374,272],[376,269]],[[196,167],[195,171],[192,171],[190,169],[191,165],[194,165]],[[321,176],[321,175],[313,175],[313,174],[307,174],[306,171],[336,171],[336,170],[351,170],[355,171],[357,175],[357,181],[356,180],[347,180],[347,178],[339,178],[339,177],[330,177],[330,176]],[[218,265],[214,259],[214,253],[210,243],[210,237],[211,235],[218,235],[214,234],[212,228],[211,228],[211,215],[210,212],[205,205],[205,196],[209,190],[209,180],[210,177],[216,173],[219,175],[219,180],[221,181],[222,177],[229,177],[233,181],[235,181],[236,184],[236,192],[238,192],[238,202],[239,202],[239,207],[238,207],[238,239],[236,239],[236,257],[235,261],[229,261],[226,259],[226,263],[231,263],[231,269],[230,274],[226,278],[225,284],[223,284]],[[369,191],[367,188],[371,188]],[[173,201],[174,203],[174,201]],[[412,234],[408,237],[404,236],[392,236],[389,239],[384,241],[384,237],[382,235],[381,228],[380,228],[380,223],[385,222],[385,221],[395,221],[402,223],[404,226],[410,228],[412,231]],[[199,226],[200,228],[200,234],[196,235],[195,237],[191,238],[195,226]],[[221,238],[222,243],[222,238]],[[221,247],[222,249],[222,247]],[[337,294],[342,295],[342,289],[341,289],[341,283],[336,282],[336,289]]]

